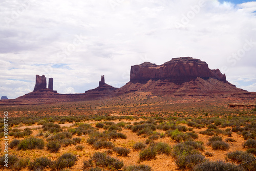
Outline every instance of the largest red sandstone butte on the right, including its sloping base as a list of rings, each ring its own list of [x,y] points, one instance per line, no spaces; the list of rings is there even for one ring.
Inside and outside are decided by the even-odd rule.
[[[191,57],[179,57],[156,65],[144,62],[131,67],[130,81],[117,94],[152,92],[158,95],[255,98],[226,81],[219,69],[210,70],[206,62]]]

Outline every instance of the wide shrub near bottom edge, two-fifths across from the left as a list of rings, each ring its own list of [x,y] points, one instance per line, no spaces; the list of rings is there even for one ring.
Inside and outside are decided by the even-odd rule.
[[[95,162],[96,166],[115,169],[121,169],[123,167],[123,161],[119,161],[118,159],[110,157],[105,153],[96,152],[91,156],[91,159]]]

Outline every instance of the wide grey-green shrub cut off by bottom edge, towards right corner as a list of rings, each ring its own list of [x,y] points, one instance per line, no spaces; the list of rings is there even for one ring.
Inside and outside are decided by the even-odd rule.
[[[231,163],[225,163],[222,160],[219,161],[205,161],[203,163],[199,163],[193,167],[194,171],[223,171],[233,168],[232,171],[244,171],[243,167],[236,167],[237,165]]]

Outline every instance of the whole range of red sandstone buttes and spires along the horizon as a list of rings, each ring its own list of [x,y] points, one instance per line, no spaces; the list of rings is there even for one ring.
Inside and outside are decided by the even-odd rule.
[[[121,88],[105,83],[101,76],[99,86],[80,94],[59,94],[53,90],[53,78],[49,86],[44,75],[36,75],[34,91],[15,100],[54,99],[54,101],[82,101],[111,98],[132,92],[150,92],[155,95],[200,99],[203,97],[255,99],[255,92],[236,88],[226,80],[219,69],[211,70],[206,62],[191,57],[179,57],[156,65],[144,62],[131,67],[130,81]]]

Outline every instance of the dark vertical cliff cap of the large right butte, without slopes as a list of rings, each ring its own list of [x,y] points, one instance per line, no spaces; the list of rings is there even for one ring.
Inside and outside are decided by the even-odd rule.
[[[201,77],[204,79],[215,78],[226,81],[225,74],[219,69],[210,70],[206,62],[191,57],[179,57],[158,66],[155,63],[144,62],[131,67],[131,82],[146,82],[152,80],[170,80],[184,82]]]

